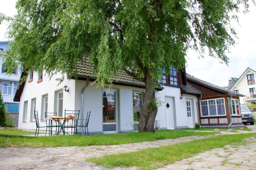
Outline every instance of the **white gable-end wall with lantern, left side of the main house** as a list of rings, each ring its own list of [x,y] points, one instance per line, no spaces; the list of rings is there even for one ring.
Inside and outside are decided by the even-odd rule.
[[[80,109],[76,108],[75,103],[75,80],[67,80],[65,79],[60,85],[55,79],[59,78],[61,75],[57,74],[52,77],[49,81],[47,76],[43,76],[43,81],[37,83],[38,81],[38,73],[34,73],[33,81],[28,83],[29,75],[27,76],[27,80],[20,96],[20,107],[19,107],[19,129],[36,129],[35,121],[30,121],[30,115],[34,114],[31,112],[31,99],[36,98],[36,110],[38,111],[38,118],[41,119],[41,108],[44,107],[42,105],[42,95],[48,94],[48,112],[56,112],[54,110],[54,103],[57,99],[55,99],[55,92],[57,90],[63,90],[63,86],[67,85],[69,87],[69,92],[65,92],[63,90],[63,116],[65,114],[65,109],[67,110],[74,110]],[[27,120],[23,122],[23,108],[24,108],[24,101],[28,101],[28,111],[27,111]],[[46,122],[39,120],[40,126],[45,126]],[[40,130],[44,130],[45,128],[41,128]]]

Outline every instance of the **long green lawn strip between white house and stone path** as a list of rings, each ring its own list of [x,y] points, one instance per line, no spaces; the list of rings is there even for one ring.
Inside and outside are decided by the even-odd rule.
[[[0,137],[0,146],[26,146],[26,147],[57,147],[57,146],[89,146],[89,145],[116,145],[124,143],[137,143],[161,139],[173,139],[192,135],[209,135],[215,132],[195,132],[185,130],[156,130],[155,133],[119,133],[98,134],[90,136],[58,135],[35,138]]]

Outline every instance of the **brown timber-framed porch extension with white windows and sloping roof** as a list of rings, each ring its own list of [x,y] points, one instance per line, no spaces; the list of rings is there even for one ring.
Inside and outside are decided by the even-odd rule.
[[[187,74],[187,82],[202,92],[198,112],[202,127],[243,127],[239,96],[227,90]],[[230,106],[230,107],[229,107]],[[231,117],[231,122],[230,122]]]

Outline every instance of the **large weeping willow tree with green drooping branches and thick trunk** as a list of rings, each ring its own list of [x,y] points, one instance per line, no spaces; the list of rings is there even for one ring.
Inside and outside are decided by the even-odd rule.
[[[123,70],[145,83],[139,131],[154,132],[162,71],[183,69],[189,49],[227,64],[236,37],[230,21],[241,5],[248,12],[247,0],[18,0],[14,17],[1,14],[12,44],[4,65],[59,72],[61,82],[77,78],[77,61],[86,57],[98,88]]]

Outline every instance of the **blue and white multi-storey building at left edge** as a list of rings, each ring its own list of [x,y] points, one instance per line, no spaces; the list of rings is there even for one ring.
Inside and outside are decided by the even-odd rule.
[[[0,41],[0,90],[4,99],[6,111],[9,113],[13,113],[13,115],[16,116],[13,121],[18,127],[19,102],[14,102],[13,98],[19,84],[19,78],[22,70],[17,67],[13,70],[13,73],[11,75],[5,74],[6,70],[3,66],[3,55],[5,55],[8,48],[10,48],[10,46],[8,45],[8,41]]]

